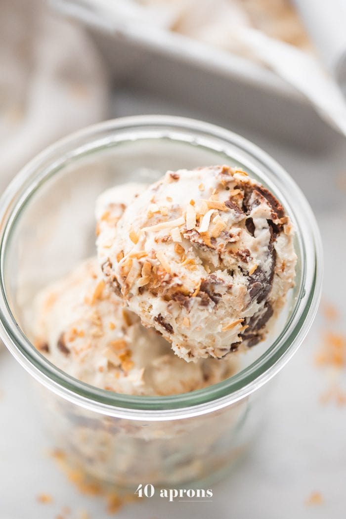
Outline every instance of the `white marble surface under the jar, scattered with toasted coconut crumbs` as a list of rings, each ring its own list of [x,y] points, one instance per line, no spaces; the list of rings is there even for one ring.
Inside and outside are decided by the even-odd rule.
[[[170,106],[134,92],[115,97],[116,116],[135,113],[171,113],[204,118],[188,108]],[[218,122],[218,121],[213,121]],[[346,281],[346,147],[336,135],[333,149],[319,151],[286,147],[267,141],[264,135],[233,128],[273,157],[305,191],[319,221],[325,254],[324,298],[339,307],[341,317],[328,322],[319,313],[306,342],[273,383],[269,419],[250,454],[227,480],[214,485],[212,503],[143,500],[119,511],[130,519],[180,518],[197,514],[200,519],[341,519],[346,495],[346,407],[322,405],[330,373],[314,363],[323,331],[337,327],[346,332],[343,311]],[[308,131],[308,129],[307,129]],[[344,172],[343,188],[340,173]],[[339,374],[346,386],[346,371]],[[87,510],[90,519],[106,519],[105,502],[85,497],[70,486],[48,456],[49,441],[43,434],[29,375],[7,352],[0,354],[0,519],[53,519],[70,507],[66,519],[78,519]],[[308,506],[306,500],[320,492],[323,503]],[[51,504],[37,502],[40,493],[50,494]]]

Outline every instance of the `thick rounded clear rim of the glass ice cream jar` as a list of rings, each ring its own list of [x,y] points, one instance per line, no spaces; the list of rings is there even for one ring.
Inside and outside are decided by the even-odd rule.
[[[303,251],[302,266],[305,272],[292,316],[266,352],[228,380],[171,397],[112,393],[84,384],[62,372],[25,337],[6,296],[4,264],[7,244],[13,224],[34,190],[60,171],[66,162],[78,160],[92,150],[96,151],[95,144],[101,140],[105,145],[112,145],[113,136],[117,132],[121,134],[141,129],[156,129],[158,138],[172,138],[174,132],[185,131],[191,134],[191,143],[195,142],[197,136],[202,138],[203,135],[220,139],[225,144],[237,147],[237,160],[242,156],[250,156],[269,169],[272,178],[267,180],[273,182],[275,192],[280,193],[281,200],[285,200],[285,207],[295,207],[294,223],[298,227]],[[289,199],[286,195],[289,195]],[[41,384],[62,398],[94,412],[136,420],[171,420],[197,416],[231,405],[264,385],[280,371],[302,343],[317,311],[322,283],[322,244],[315,217],[300,188],[274,159],[255,144],[226,129],[198,120],[164,115],[123,117],[90,126],[58,141],[29,162],[13,179],[0,200],[0,272],[2,338],[13,356]]]

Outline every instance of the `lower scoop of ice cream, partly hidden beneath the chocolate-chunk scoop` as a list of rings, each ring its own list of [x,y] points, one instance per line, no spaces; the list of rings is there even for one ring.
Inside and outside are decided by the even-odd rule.
[[[187,364],[154,329],[122,307],[96,258],[37,296],[34,344],[61,370],[118,393],[170,395],[231,376],[236,363]]]

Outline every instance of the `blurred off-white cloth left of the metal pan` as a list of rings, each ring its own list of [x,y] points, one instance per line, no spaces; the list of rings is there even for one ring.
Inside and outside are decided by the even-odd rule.
[[[36,153],[104,118],[105,67],[85,32],[43,1],[3,0],[0,192]]]

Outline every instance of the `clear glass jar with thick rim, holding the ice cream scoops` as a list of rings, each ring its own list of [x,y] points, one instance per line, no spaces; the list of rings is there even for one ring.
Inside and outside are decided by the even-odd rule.
[[[31,302],[95,254],[96,196],[129,180],[152,182],[168,169],[220,163],[240,166],[266,185],[296,229],[296,285],[271,336],[239,354],[239,370],[229,379],[170,397],[104,391],[52,365],[27,338]],[[227,130],[178,117],[129,117],[75,133],[33,159],[3,195],[0,222],[1,334],[40,383],[52,443],[69,463],[130,489],[223,474],[251,444],[267,383],[302,343],[319,303],[319,230],[290,176]]]

